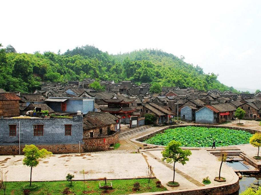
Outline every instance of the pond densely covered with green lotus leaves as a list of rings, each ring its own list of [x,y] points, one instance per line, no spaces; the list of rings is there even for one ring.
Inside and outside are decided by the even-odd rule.
[[[216,146],[230,146],[248,144],[250,137],[252,134],[242,130],[187,126],[167,129],[144,142],[166,146],[170,141],[176,140],[185,147],[211,147],[213,139]]]

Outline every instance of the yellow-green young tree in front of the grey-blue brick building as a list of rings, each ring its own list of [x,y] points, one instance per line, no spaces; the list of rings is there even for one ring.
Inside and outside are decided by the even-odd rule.
[[[46,149],[39,150],[35,145],[25,145],[23,148],[25,157],[23,158],[23,165],[31,167],[30,172],[30,186],[32,184],[32,170],[39,164],[39,158],[47,158],[53,153],[47,151]]]

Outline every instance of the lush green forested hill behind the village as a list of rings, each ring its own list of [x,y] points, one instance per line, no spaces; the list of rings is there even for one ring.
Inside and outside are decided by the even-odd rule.
[[[217,75],[205,74],[199,66],[157,49],[109,55],[86,45],[63,54],[14,52],[0,50],[0,88],[6,91],[32,92],[41,88],[41,81],[65,83],[85,78],[235,91],[220,83]]]

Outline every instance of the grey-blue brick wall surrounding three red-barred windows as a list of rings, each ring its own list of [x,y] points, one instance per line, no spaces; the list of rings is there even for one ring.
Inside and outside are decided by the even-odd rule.
[[[82,116],[73,118],[29,118],[29,119],[0,119],[0,145],[19,142],[21,144],[76,144],[82,141],[83,126]],[[16,125],[16,136],[9,136],[9,125]],[[34,136],[33,125],[43,125],[43,136]],[[71,124],[71,136],[65,136],[65,124]]]

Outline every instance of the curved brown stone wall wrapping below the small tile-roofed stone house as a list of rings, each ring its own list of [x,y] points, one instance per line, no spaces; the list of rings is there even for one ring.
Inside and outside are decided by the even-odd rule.
[[[119,132],[115,132],[110,136],[98,137],[98,138],[83,138],[84,152],[95,152],[108,150],[111,144],[118,143]]]

